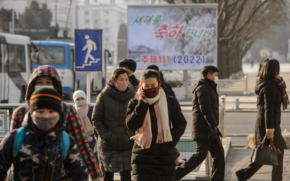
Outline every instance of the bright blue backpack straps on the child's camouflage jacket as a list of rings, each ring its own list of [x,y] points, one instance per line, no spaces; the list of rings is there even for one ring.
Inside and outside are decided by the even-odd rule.
[[[20,127],[16,130],[14,142],[13,142],[13,148],[12,148],[12,157],[16,158],[20,148],[22,146],[24,136],[26,133],[26,129],[24,127]],[[61,143],[62,143],[62,148],[63,148],[63,159],[66,158],[68,152],[69,152],[69,134],[67,134],[65,131],[61,133]],[[11,168],[7,171],[7,176],[9,176],[11,173]]]

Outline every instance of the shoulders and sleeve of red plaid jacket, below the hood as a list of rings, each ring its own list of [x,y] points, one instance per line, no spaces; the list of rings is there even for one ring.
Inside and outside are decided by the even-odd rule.
[[[102,176],[101,170],[97,165],[97,160],[93,154],[93,150],[89,147],[87,137],[82,127],[81,120],[73,106],[62,102],[63,114],[66,117],[66,132],[75,137],[82,154],[82,158],[88,168],[89,175],[92,179]],[[25,114],[28,112],[29,106],[19,106],[12,114],[10,131],[21,127]]]

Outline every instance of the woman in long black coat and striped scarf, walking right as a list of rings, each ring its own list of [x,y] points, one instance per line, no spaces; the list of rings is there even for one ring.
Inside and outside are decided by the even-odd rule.
[[[287,145],[281,134],[281,104],[283,110],[287,109],[289,99],[286,92],[286,84],[282,77],[279,77],[280,65],[276,59],[263,61],[260,71],[260,78],[256,80],[255,93],[257,97],[257,117],[255,122],[255,145],[261,143],[266,136],[265,144],[269,145],[270,140],[277,149],[278,166],[272,167],[272,181],[283,179],[283,157]],[[239,181],[250,179],[263,165],[251,163],[247,168],[236,172]]]

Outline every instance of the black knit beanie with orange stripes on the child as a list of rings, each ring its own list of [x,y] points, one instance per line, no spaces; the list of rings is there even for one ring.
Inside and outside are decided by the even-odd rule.
[[[37,89],[32,93],[30,97],[29,108],[30,113],[38,109],[51,109],[61,115],[61,96],[55,89]]]

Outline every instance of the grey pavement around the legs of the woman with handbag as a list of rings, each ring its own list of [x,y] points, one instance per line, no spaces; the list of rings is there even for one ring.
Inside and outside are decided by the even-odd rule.
[[[237,181],[236,171],[248,167],[253,149],[232,148],[225,163],[226,181]],[[283,180],[290,180],[290,150],[285,150],[283,162]],[[249,181],[271,180],[272,166],[264,165]]]

